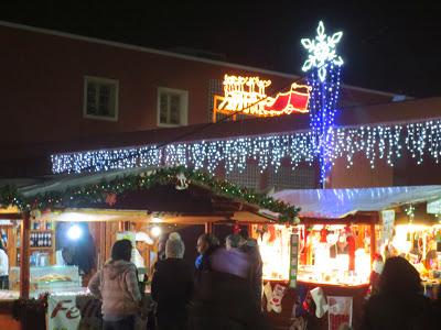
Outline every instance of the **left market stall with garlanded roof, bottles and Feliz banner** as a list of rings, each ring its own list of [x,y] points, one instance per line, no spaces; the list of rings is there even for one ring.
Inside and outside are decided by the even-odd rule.
[[[82,264],[55,265],[61,246],[55,248],[55,242],[65,243],[58,235],[61,224],[71,230],[87,223],[97,248],[95,266],[99,267],[120,235],[136,237],[140,230],[148,234],[153,228],[166,230],[170,226],[197,224],[204,232],[217,222],[275,221],[260,212],[262,208],[278,215],[279,220],[289,221],[298,211],[272,198],[182,167],[67,176],[8,194],[23,216],[21,263],[20,267],[11,267],[9,293],[11,299],[19,297],[18,289],[24,299],[47,293],[50,329],[61,326],[76,329],[78,322],[96,327],[100,316],[99,306],[85,289],[87,274],[80,272]],[[32,235],[36,230],[51,235],[40,232]],[[78,229],[72,235],[78,235]],[[144,258],[151,260],[150,255]]]

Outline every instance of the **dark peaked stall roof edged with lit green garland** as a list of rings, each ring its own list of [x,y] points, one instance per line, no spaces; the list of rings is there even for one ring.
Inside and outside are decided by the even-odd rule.
[[[257,191],[181,166],[0,182],[0,205],[44,212],[56,221],[294,221],[298,210]],[[6,185],[14,186],[9,190]],[[6,198],[6,197],[8,198]],[[2,200],[1,200],[2,199]],[[8,200],[7,200],[8,199]],[[79,215],[80,213],[80,215]],[[82,216],[82,217],[79,217]]]

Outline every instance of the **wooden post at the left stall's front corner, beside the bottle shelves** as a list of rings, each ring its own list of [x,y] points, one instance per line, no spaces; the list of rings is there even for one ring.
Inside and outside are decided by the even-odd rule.
[[[23,212],[23,221],[21,224],[21,251],[20,251],[20,297],[29,299],[30,290],[30,229],[31,229],[31,213]]]

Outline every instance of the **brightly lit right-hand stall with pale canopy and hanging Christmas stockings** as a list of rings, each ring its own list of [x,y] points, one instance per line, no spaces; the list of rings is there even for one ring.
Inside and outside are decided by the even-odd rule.
[[[277,199],[299,205],[302,210],[297,227],[255,227],[263,258],[265,307],[272,323],[283,328],[308,321],[313,329],[333,329],[333,324],[345,321],[357,327],[374,257],[377,254],[387,257],[385,246],[395,244],[399,248],[394,248],[394,253],[409,258],[412,257],[411,248],[420,244],[420,254],[431,250],[429,263],[432,268],[439,267],[441,251],[434,251],[441,242],[438,222],[429,224],[428,218],[434,217],[423,212],[426,224],[417,226],[415,221],[421,217],[409,219],[408,209],[416,205],[421,209],[440,196],[440,186],[304,189],[275,194]],[[298,237],[295,287],[290,285],[292,234]],[[426,271],[423,263],[422,257],[416,258],[417,270]],[[438,285],[437,270],[421,272],[424,287]]]

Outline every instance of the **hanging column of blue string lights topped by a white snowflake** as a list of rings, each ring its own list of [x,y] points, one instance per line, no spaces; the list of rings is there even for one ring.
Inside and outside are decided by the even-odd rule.
[[[315,38],[302,38],[301,43],[309,52],[302,66],[308,72],[308,85],[312,87],[310,98],[310,128],[312,147],[320,160],[320,180],[324,185],[333,158],[334,120],[337,112],[341,67],[343,58],[335,53],[336,44],[343,32],[332,36],[324,33],[324,24],[319,22]]]

